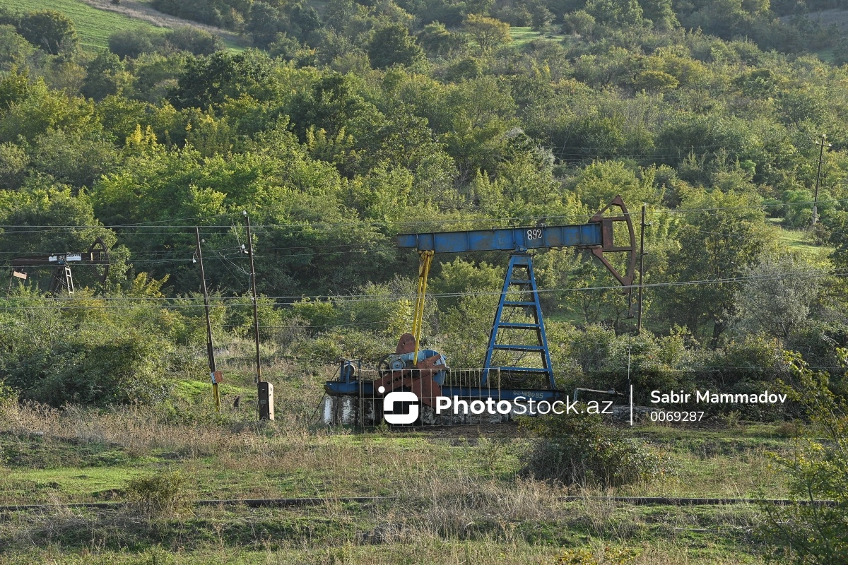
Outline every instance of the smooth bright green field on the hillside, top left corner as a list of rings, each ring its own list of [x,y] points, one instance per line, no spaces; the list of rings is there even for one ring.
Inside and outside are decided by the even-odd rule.
[[[159,30],[154,25],[121,14],[92,8],[79,0],[0,0],[0,6],[20,12],[52,9],[65,14],[74,21],[82,47],[102,49],[107,47],[109,36],[115,31],[145,27]]]

